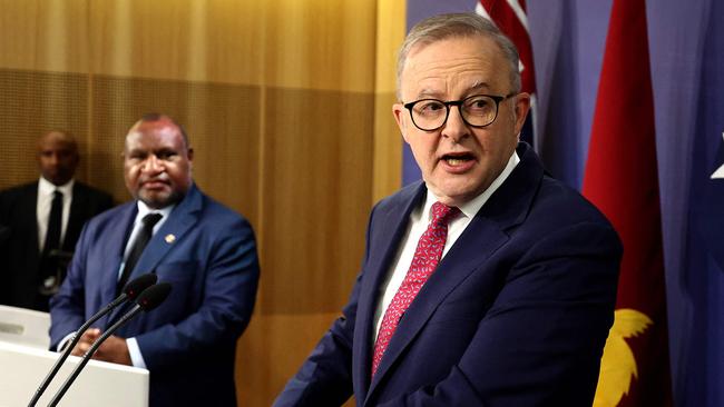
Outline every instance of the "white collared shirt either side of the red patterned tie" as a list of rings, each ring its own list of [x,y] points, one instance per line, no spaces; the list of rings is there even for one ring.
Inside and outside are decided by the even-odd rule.
[[[508,176],[510,176],[518,162],[520,162],[520,158],[518,157],[518,153],[513,151],[512,156],[510,156],[510,159],[508,160],[508,163],[502,169],[500,175],[490,183],[490,187],[488,187],[485,191],[482,191],[482,193],[474,197],[470,201],[458,207],[462,215],[454,218],[448,225],[448,238],[444,244],[444,249],[442,250],[441,259],[448,254],[452,245],[454,245],[468,225],[470,225],[470,221],[472,218],[474,218],[480,208],[482,208],[488,199],[490,199],[490,196],[492,196],[492,193],[498,190],[498,188],[500,188],[502,182],[505,182]],[[424,199],[424,205],[414,209],[410,214],[408,230],[400,241],[400,248],[398,249],[397,257],[394,261],[392,261],[392,266],[390,268],[390,271],[388,271],[385,280],[380,285],[379,290],[382,291],[383,295],[380,296],[381,299],[378,302],[376,310],[374,311],[374,337],[372,338],[373,344],[376,340],[378,332],[380,331],[380,326],[382,325],[382,316],[390,306],[390,302],[392,302],[392,298],[394,298],[394,295],[400,289],[400,286],[402,285],[402,281],[404,280],[404,277],[410,269],[410,265],[412,264],[412,258],[414,257],[418,241],[420,240],[420,237],[422,237],[422,234],[424,234],[424,231],[428,229],[430,220],[432,220],[432,205],[438,201],[438,198],[431,193],[429,189],[428,192],[429,193],[427,193]]]

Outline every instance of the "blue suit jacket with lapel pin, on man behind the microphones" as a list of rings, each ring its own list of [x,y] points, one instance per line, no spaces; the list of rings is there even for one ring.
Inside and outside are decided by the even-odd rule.
[[[50,301],[51,347],[115,297],[135,201],[88,222],[66,281]],[[235,406],[236,340],[256,296],[258,260],[250,224],[195,186],[153,236],[130,279],[156,272],[173,288],[164,304],[117,331],[135,337],[150,371],[150,406]],[[108,327],[108,318],[99,321]]]

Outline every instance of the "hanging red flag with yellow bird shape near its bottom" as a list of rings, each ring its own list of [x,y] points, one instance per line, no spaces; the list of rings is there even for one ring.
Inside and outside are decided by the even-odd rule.
[[[595,406],[671,405],[654,98],[644,0],[614,0],[584,195],[624,242]]]

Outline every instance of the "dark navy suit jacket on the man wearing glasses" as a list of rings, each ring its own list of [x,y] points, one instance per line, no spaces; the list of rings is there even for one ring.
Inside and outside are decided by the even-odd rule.
[[[413,183],[379,202],[343,317],[276,406],[590,406],[614,320],[622,256],[609,222],[548,177],[530,146],[440,261],[370,379],[381,284]]]

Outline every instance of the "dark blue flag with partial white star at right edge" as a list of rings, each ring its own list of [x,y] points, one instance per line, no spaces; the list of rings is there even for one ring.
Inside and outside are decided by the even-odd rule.
[[[710,16],[724,16],[711,2]],[[685,406],[724,406],[724,24],[710,18],[703,43],[691,168],[683,288],[686,329]],[[707,51],[708,50],[708,51]],[[683,373],[683,371],[682,371]]]

